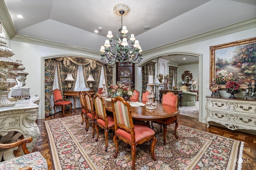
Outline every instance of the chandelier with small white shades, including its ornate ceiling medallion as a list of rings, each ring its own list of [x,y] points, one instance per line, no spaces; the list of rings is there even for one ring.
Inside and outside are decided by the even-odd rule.
[[[139,41],[135,39],[134,34],[127,35],[128,30],[126,26],[123,26],[123,15],[126,15],[130,12],[130,8],[126,4],[117,4],[114,6],[114,12],[121,15],[121,28],[119,29],[120,36],[116,34],[116,40],[113,40],[112,32],[108,31],[108,40],[105,41],[104,45],[101,46],[100,51],[102,52],[101,60],[105,64],[115,65],[116,62],[119,62],[120,66],[124,63],[132,65],[133,63],[140,63],[142,59],[142,51]],[[127,42],[130,40],[130,44]],[[115,50],[111,50],[112,49]],[[105,57],[106,56],[106,57]]]

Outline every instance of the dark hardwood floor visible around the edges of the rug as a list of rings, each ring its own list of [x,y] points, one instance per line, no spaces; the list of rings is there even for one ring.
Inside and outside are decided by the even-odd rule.
[[[81,109],[72,109],[72,112],[66,111],[64,117],[69,117],[73,115],[80,115]],[[37,120],[37,125],[40,129],[40,136],[39,139],[36,142],[36,145],[34,146],[33,152],[39,151],[41,152],[42,156],[46,158],[48,162],[48,170],[52,170],[52,162],[50,158],[50,150],[48,146],[48,140],[47,140],[47,134],[44,128],[44,121],[50,120],[50,119],[58,119],[62,118],[63,115],[61,112],[56,113],[55,115],[52,115],[50,117],[47,117],[45,119],[39,119]],[[220,136],[225,136],[228,138],[232,138],[235,140],[240,140],[244,142],[244,150],[243,150],[243,156],[241,161],[242,163],[242,170],[252,170],[253,167],[256,167],[256,135],[249,134],[245,132],[240,132],[237,130],[229,130],[227,128],[217,127],[210,125],[209,128],[206,127],[205,123],[198,122],[198,118],[194,117],[188,117],[184,115],[178,115],[178,123],[179,125],[184,125],[186,127],[195,128],[198,130],[202,130],[205,132],[210,132],[213,134],[217,134]]]

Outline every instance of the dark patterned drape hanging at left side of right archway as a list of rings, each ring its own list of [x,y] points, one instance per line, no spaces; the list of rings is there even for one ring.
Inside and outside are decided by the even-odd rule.
[[[155,63],[156,62],[149,62],[142,66],[142,93],[144,93],[147,90],[147,84],[148,84],[148,76],[153,75],[155,76]]]

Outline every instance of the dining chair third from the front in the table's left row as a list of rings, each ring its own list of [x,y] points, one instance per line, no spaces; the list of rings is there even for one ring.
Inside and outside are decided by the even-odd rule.
[[[88,132],[89,129],[89,121],[90,119],[92,121],[92,138],[94,138],[95,134],[95,127],[94,127],[94,122],[95,122],[95,111],[94,107],[92,104],[92,96],[88,93],[85,92],[85,106],[86,106],[86,116],[85,116],[85,123],[86,123],[86,132]]]

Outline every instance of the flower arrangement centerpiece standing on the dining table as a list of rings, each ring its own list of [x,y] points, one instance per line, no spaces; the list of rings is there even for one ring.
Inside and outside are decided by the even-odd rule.
[[[123,97],[124,95],[133,95],[133,90],[130,90],[126,85],[120,83],[119,81],[116,82],[116,85],[109,85],[108,89],[110,89],[110,98],[114,98],[117,96]]]

